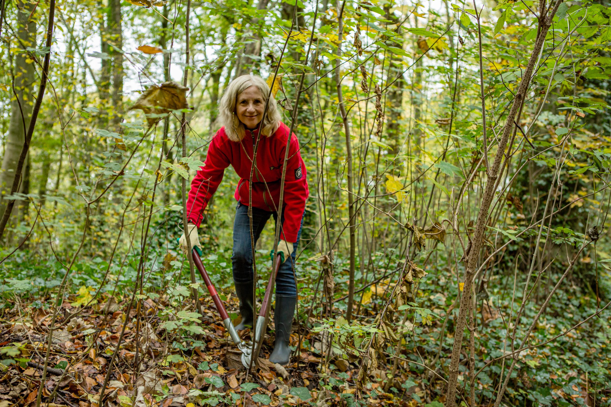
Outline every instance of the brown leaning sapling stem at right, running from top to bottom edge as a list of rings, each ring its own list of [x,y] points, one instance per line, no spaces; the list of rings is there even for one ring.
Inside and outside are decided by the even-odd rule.
[[[547,31],[551,27],[552,18],[558,6],[563,0],[557,0],[553,7],[550,7],[551,11],[547,12],[546,1],[540,2],[539,8],[539,27],[537,30],[537,36],[535,40],[535,46],[533,47],[532,54],[529,59],[529,63],[524,70],[522,75],[522,81],[518,87],[518,91],[514,97],[513,103],[511,103],[511,109],[505,119],[505,125],[499,139],[499,145],[497,146],[497,152],[492,162],[492,167],[487,168],[486,172],[488,179],[486,180],[486,188],[481,199],[480,211],[477,214],[477,222],[475,223],[475,232],[472,239],[472,248],[467,257],[467,267],[464,279],[464,295],[460,301],[460,308],[458,311],[458,318],[456,320],[456,333],[454,336],[454,344],[452,348],[452,359],[450,361],[450,375],[448,377],[448,387],[446,393],[446,400],[448,407],[456,406],[456,383],[458,380],[458,364],[460,361],[461,347],[463,344],[464,328],[466,325],[467,310],[469,309],[469,302],[471,299],[471,287],[475,271],[477,270],[477,260],[480,255],[481,242],[484,237],[484,230],[488,222],[488,211],[494,197],[494,191],[496,190],[496,181],[499,177],[499,167],[503,156],[505,155],[505,147],[514,128],[514,119],[518,114],[518,111],[522,110],[524,105],[525,96],[530,86],[530,79],[533,75],[536,62],[539,58],[539,54],[543,48]],[[511,147],[511,146],[510,146]]]

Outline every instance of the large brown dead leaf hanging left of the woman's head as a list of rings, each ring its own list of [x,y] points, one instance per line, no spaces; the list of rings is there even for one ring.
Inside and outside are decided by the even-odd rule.
[[[177,109],[189,107],[186,98],[188,87],[176,82],[163,82],[159,86],[148,88],[130,110],[141,109],[146,114],[164,114]],[[147,117],[148,125],[154,125],[161,117]]]

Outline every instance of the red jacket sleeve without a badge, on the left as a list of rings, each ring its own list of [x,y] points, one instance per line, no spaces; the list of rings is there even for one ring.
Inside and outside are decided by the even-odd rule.
[[[208,146],[204,166],[200,167],[191,181],[191,189],[187,199],[187,219],[189,222],[196,224],[197,227],[202,223],[203,210],[223,179],[225,168],[230,164],[229,158],[222,148],[220,132],[219,130],[216,133]]]

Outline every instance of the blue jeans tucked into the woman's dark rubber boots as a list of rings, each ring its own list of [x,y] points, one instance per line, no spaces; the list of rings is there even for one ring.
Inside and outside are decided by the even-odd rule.
[[[259,240],[263,227],[265,227],[265,224],[270,216],[274,216],[274,221],[278,221],[278,215],[276,212],[270,212],[254,207],[252,208],[253,244],[257,244],[257,240]],[[284,210],[282,211],[280,222],[284,223]],[[278,274],[276,276],[276,295],[285,297],[297,296],[297,286],[295,276],[293,275],[293,265],[295,264],[297,244],[299,243],[299,238],[301,238],[301,227],[303,226],[303,223],[304,218],[302,215],[301,225],[299,226],[299,232],[297,233],[297,241],[293,243],[291,259],[285,260],[285,262],[280,265],[280,270],[278,270]],[[240,202],[238,202],[238,207],[235,210],[235,220],[233,221],[233,255],[231,260],[233,267],[233,281],[247,283],[254,280],[248,205],[241,204]]]

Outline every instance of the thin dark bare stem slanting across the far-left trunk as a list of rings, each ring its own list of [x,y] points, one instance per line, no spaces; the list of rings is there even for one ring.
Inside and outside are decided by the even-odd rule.
[[[40,86],[38,86],[38,95],[34,103],[34,108],[32,108],[32,116],[30,117],[29,125],[27,127],[27,133],[23,141],[23,146],[21,147],[21,153],[17,160],[17,165],[16,165],[15,173],[14,173],[15,175],[13,177],[13,186],[10,189],[11,195],[15,194],[19,189],[19,184],[21,180],[21,172],[23,171],[23,166],[26,162],[27,152],[30,149],[30,142],[32,140],[32,134],[34,134],[34,127],[36,126],[36,119],[38,117],[38,112],[40,111],[40,106],[42,105],[42,98],[45,95],[47,75],[49,73],[49,63],[51,62],[51,43],[53,43],[54,18],[55,18],[55,0],[50,0],[49,1],[49,20],[48,20],[48,25],[46,29],[46,42],[45,42],[46,53],[45,53],[45,60],[43,61],[43,65],[42,65],[42,73],[40,73]],[[24,117],[24,115],[22,117]],[[25,122],[23,122],[23,124],[24,123]],[[10,213],[13,211],[14,206],[15,206],[15,199],[9,199],[6,207],[4,208],[4,214],[2,215],[2,219],[0,220],[0,238],[2,238],[2,236],[4,235],[4,229],[6,229],[6,224],[7,222],[9,222]]]

